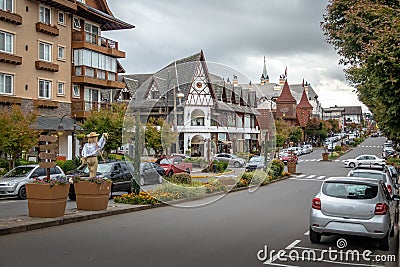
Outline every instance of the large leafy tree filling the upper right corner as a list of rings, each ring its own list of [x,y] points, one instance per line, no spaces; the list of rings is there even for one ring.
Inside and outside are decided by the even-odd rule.
[[[400,141],[400,2],[330,0],[321,26],[380,130]]]

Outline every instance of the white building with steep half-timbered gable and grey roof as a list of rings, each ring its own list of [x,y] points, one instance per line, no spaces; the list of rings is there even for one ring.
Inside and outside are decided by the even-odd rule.
[[[173,125],[179,137],[172,152],[210,157],[258,147],[255,91],[210,74],[203,51],[143,77],[124,76],[125,91],[135,92],[130,108],[143,121],[163,117]]]

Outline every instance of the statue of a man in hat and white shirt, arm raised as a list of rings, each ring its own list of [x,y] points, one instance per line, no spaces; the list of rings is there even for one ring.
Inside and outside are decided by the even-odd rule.
[[[89,177],[96,177],[97,174],[97,156],[100,155],[101,150],[106,144],[108,133],[103,133],[100,140],[98,140],[99,134],[91,132],[86,135],[88,142],[85,143],[82,149],[82,164],[87,163],[89,168]]]

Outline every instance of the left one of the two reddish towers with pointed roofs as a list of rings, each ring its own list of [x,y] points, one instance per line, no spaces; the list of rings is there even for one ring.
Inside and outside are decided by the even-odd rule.
[[[276,118],[296,120],[297,101],[290,92],[289,84],[285,81],[280,96],[276,99]]]

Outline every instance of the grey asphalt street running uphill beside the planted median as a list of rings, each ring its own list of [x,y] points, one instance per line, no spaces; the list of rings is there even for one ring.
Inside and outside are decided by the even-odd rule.
[[[336,260],[326,254],[312,262],[276,254],[313,251],[321,256],[324,250],[339,250],[338,236],[310,243],[311,200],[325,178],[347,175],[350,168],[341,160],[363,153],[380,156],[384,140],[367,139],[339,161],[320,162],[322,150],[314,150],[299,158],[296,176],[254,193],[228,194],[207,206],[157,208],[1,236],[0,266],[398,266],[397,258],[386,264],[376,258],[350,263],[336,253]],[[2,213],[7,201],[15,200],[0,201]],[[387,252],[369,239],[344,238],[343,251],[371,250],[385,259],[397,255],[397,236]]]

